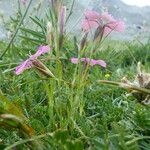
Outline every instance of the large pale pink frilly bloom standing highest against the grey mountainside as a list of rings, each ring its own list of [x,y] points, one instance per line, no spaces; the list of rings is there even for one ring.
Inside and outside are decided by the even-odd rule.
[[[89,32],[92,28],[98,28],[104,26],[104,33],[108,34],[111,31],[123,32],[125,25],[123,21],[116,20],[104,12],[102,15],[95,11],[86,11],[84,14],[85,18],[82,20],[82,29],[84,32]]]

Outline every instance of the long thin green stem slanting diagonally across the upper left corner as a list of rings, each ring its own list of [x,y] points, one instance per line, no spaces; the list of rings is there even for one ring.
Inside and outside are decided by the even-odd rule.
[[[9,50],[11,44],[13,43],[13,41],[14,41],[14,39],[15,39],[15,37],[16,37],[18,31],[19,31],[19,28],[20,28],[20,26],[22,25],[22,23],[23,23],[23,21],[24,21],[26,15],[27,15],[27,13],[28,13],[28,10],[29,10],[29,8],[30,8],[30,6],[31,6],[32,1],[33,1],[33,0],[30,0],[29,4],[28,4],[28,6],[27,6],[27,8],[26,8],[26,10],[25,10],[25,13],[24,13],[23,17],[22,17],[22,19],[20,20],[20,22],[19,22],[19,24],[18,24],[18,26],[17,26],[17,28],[16,28],[16,31],[15,31],[15,33],[14,33],[12,39],[10,40],[10,42],[9,42],[8,46],[6,47],[5,51],[4,51],[4,52],[2,53],[2,55],[0,56],[0,59],[3,58],[3,56],[6,54],[6,52]]]

